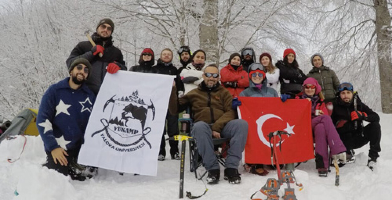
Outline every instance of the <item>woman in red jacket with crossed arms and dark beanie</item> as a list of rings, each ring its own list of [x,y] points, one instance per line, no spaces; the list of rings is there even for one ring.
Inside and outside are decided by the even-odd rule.
[[[248,72],[243,70],[241,55],[238,53],[230,55],[229,64],[221,69],[220,74],[223,87],[229,90],[233,98],[240,96],[240,93],[249,87]]]

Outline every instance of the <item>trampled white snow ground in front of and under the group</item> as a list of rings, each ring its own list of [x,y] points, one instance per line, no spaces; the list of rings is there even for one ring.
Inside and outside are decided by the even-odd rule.
[[[317,175],[314,159],[310,160],[294,171],[298,182],[304,186],[303,190],[299,191],[299,188],[292,184],[299,200],[392,199],[392,114],[380,116],[382,152],[377,162],[377,170],[372,172],[366,167],[368,145],[356,150],[356,163],[340,168],[340,186],[334,186],[334,168],[331,168],[327,178],[321,178]],[[45,161],[45,153],[40,137],[27,137],[20,159],[13,163],[7,162],[7,159],[19,156],[23,143],[23,137],[18,137],[0,144],[0,200],[178,199],[180,161],[158,162],[156,177],[132,174],[121,176],[117,172],[100,169],[93,179],[79,182],[41,167]],[[186,160],[185,166],[185,191],[200,195],[205,186],[189,171],[188,161]],[[231,185],[221,177],[219,184],[207,185],[209,190],[200,199],[249,199],[268,178],[277,177],[276,171],[270,171],[269,175],[261,177],[243,172],[242,167],[239,170],[242,173],[241,184]],[[204,170],[199,169],[199,172],[203,173]],[[223,168],[221,174],[223,175]],[[19,193],[18,196],[14,194],[15,190]],[[283,188],[281,196],[282,193]],[[265,199],[261,193],[256,197]]]

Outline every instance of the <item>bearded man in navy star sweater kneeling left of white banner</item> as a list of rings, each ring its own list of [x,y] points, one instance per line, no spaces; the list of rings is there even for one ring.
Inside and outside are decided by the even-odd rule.
[[[36,122],[47,154],[44,166],[77,180],[85,179],[74,166],[95,102],[85,84],[91,68],[86,59],[76,59],[69,67],[70,77],[51,85],[42,96]]]

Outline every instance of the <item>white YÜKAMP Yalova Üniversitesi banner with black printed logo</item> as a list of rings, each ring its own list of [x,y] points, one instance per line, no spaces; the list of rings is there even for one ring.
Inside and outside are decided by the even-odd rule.
[[[174,78],[131,71],[107,73],[78,163],[155,176]]]

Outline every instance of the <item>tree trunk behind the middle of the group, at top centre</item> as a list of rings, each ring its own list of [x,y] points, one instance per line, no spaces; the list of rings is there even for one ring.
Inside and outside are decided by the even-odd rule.
[[[207,62],[218,63],[218,0],[204,0],[204,14],[200,23],[200,48],[207,54]]]

